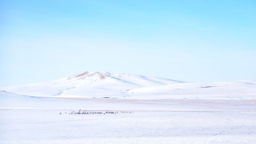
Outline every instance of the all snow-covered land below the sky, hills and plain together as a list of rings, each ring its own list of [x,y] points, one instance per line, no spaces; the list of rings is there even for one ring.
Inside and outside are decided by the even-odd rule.
[[[3,88],[0,143],[253,144],[255,85],[84,72]]]

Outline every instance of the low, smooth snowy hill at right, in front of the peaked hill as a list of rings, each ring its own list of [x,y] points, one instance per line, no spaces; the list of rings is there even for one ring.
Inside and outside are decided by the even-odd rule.
[[[256,100],[256,84],[252,81],[166,84],[132,89],[127,93],[137,98]]]

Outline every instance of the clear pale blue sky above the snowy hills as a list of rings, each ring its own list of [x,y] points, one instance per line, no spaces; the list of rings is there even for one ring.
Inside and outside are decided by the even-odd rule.
[[[256,1],[0,1],[0,87],[85,71],[256,79]]]

